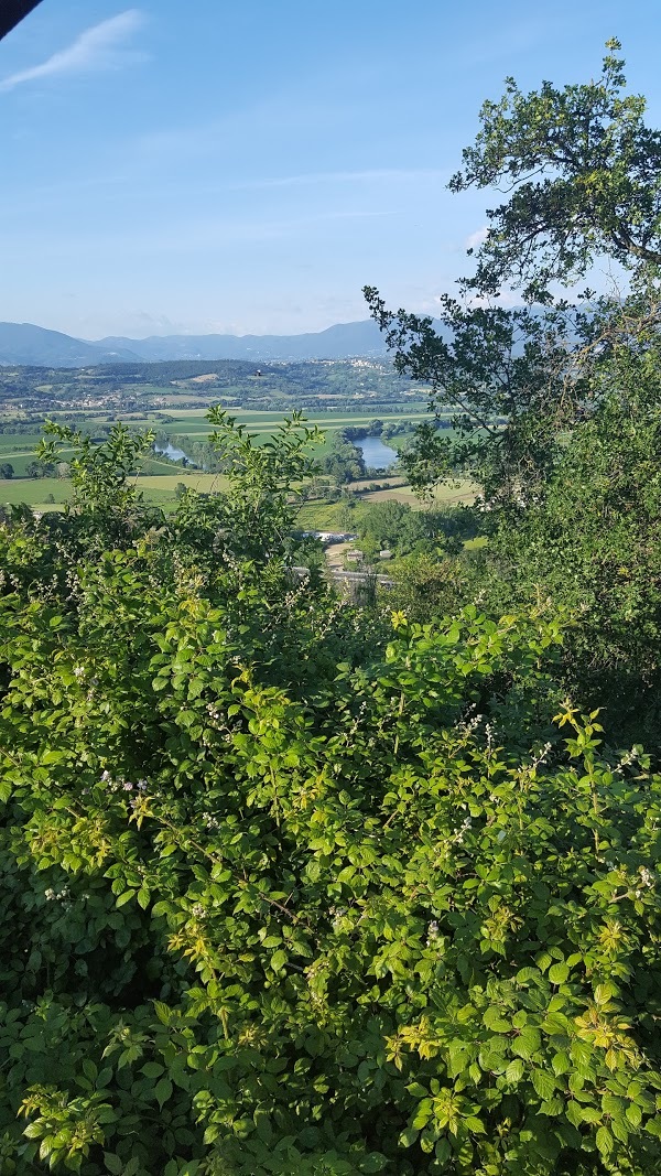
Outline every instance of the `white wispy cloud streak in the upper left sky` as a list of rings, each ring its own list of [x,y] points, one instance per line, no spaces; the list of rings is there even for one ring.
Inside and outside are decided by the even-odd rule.
[[[126,47],[126,42],[143,22],[145,18],[138,8],[129,8],[109,20],[102,20],[100,25],[93,25],[76,36],[66,49],[53,53],[40,65],[5,78],[0,81],[0,91],[14,89],[15,86],[41,78],[89,73],[92,69],[116,69],[135,60],[136,54]]]

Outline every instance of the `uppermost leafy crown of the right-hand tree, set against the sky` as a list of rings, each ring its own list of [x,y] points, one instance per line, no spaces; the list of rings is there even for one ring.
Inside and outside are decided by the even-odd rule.
[[[661,262],[661,133],[643,122],[645,98],[625,96],[620,42],[596,81],[522,93],[513,78],[480,112],[450,188],[503,186],[467,286],[496,293],[505,281],[530,301],[555,280],[582,276],[600,253],[619,262]]]

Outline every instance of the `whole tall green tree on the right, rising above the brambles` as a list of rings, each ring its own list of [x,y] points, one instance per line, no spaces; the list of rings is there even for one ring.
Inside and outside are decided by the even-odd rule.
[[[622,96],[610,51],[597,82],[523,94],[512,80],[482,107],[450,187],[507,182],[462,299],[429,318],[388,310],[366,288],[398,369],[430,389],[436,417],[405,459],[419,488],[469,473],[489,547],[475,594],[494,616],[523,601],[574,619],[569,693],[599,697],[619,734],[653,731],[661,697],[659,437],[661,133],[645,100]],[[626,289],[568,287],[590,261],[621,263]],[[550,283],[566,283],[552,301]],[[522,287],[538,305],[493,295]],[[554,294],[556,290],[554,290]],[[539,305],[547,303],[547,305]],[[445,599],[445,597],[443,597]]]

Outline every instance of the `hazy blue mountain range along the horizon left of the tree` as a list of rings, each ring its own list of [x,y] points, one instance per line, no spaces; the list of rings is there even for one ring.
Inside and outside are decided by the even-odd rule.
[[[0,322],[0,366],[92,367],[158,360],[343,360],[383,356],[386,346],[370,319],[305,335],[152,335],[89,342],[29,322]]]

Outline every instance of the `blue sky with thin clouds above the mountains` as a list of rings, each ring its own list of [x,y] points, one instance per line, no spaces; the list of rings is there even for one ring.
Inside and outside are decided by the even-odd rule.
[[[659,0],[42,0],[0,41],[0,320],[84,339],[434,313],[482,101],[600,73],[661,122]]]

